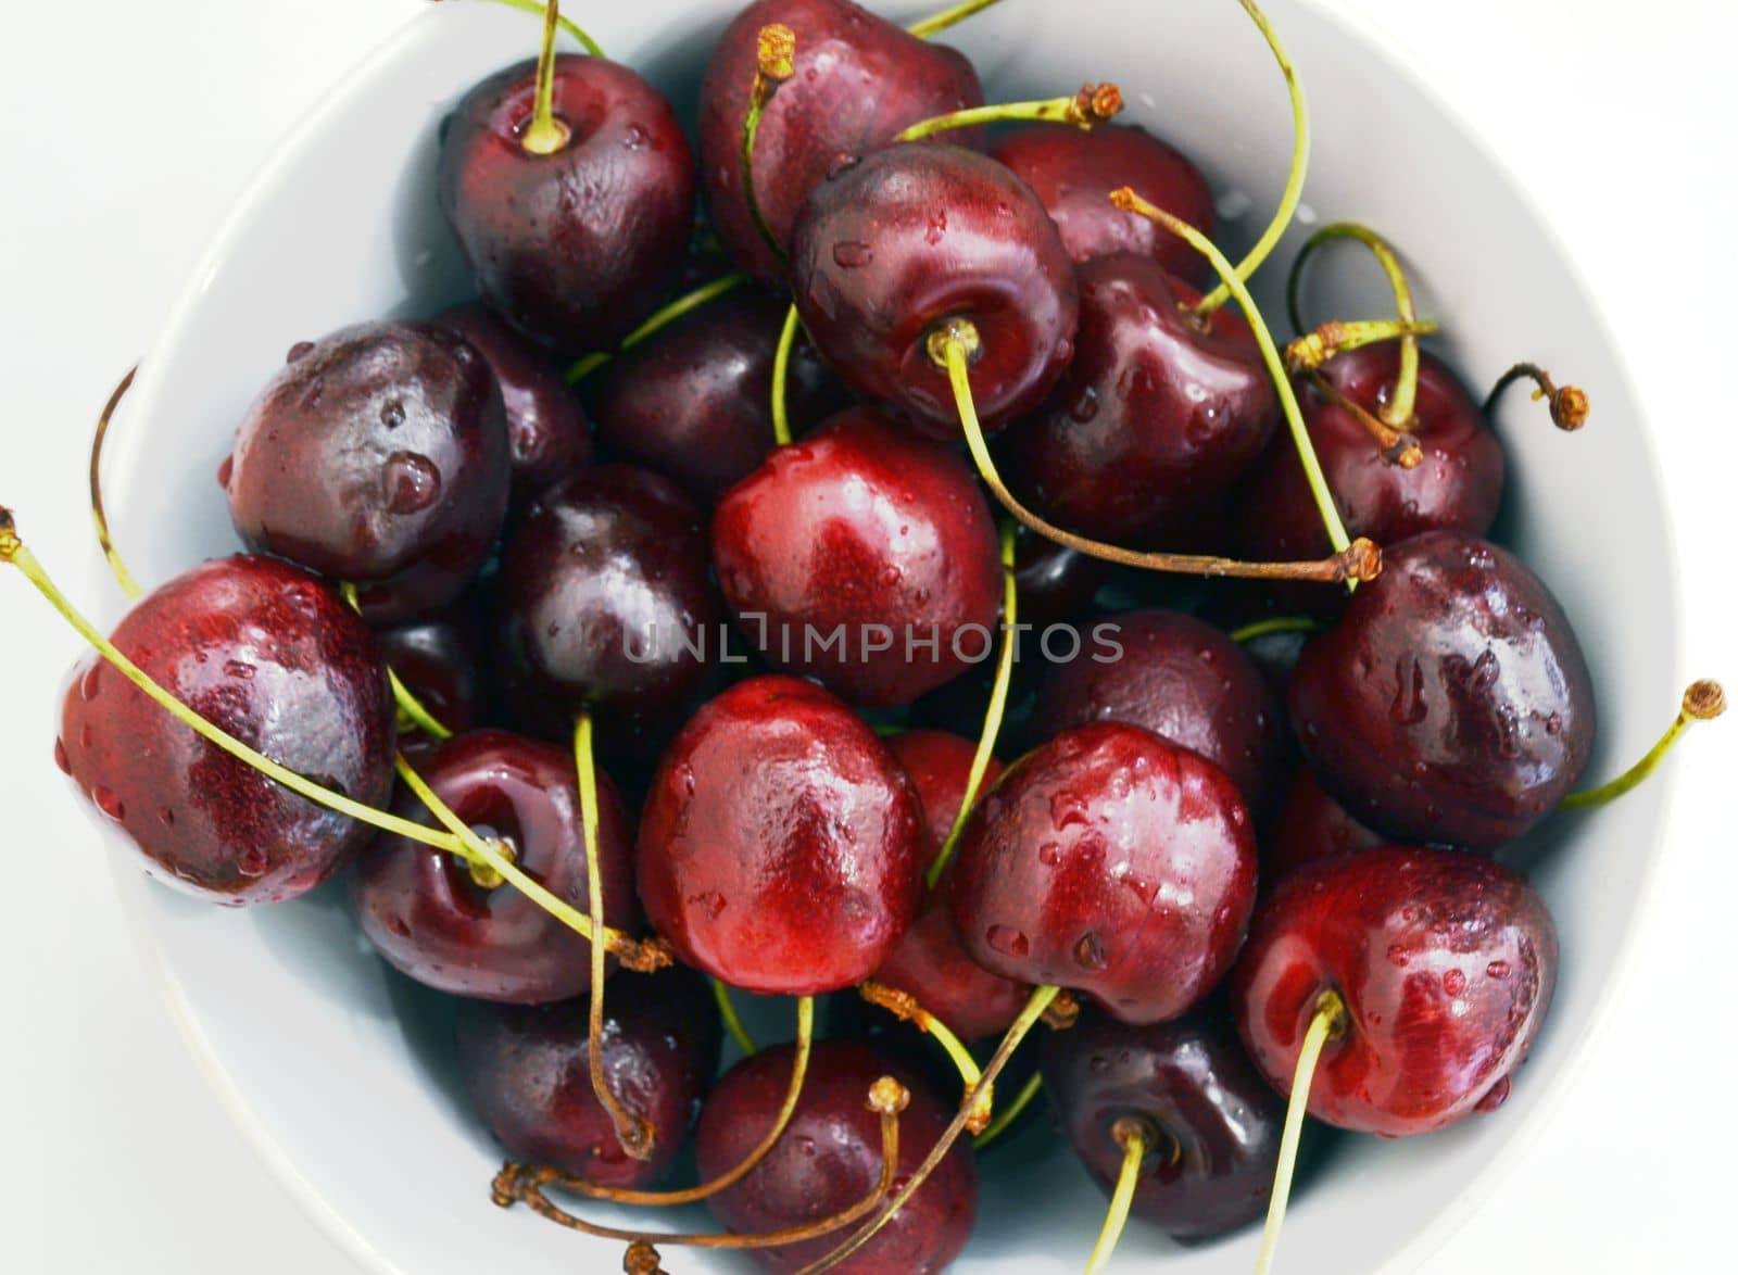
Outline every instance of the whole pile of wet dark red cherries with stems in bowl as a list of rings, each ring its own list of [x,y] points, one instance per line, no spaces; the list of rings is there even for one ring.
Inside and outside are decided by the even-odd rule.
[[[1211,287],[1208,184],[1112,87],[985,108],[930,40],[991,2],[749,3],[697,149],[549,3],[441,135],[480,301],[295,344],[219,472],[247,552],[89,631],[66,693],[57,763],[165,882],[348,877],[459,997],[495,1202],[631,1272],[940,1270],[1038,1096],[1112,1195],[1091,1268],[1130,1212],[1270,1212],[1265,1266],[1305,1107],[1489,1112],[1550,1006],[1500,851],[1608,792],[1571,796],[1575,632],[1484,538],[1488,405],[1354,226],[1309,252],[1366,243],[1396,318],[1276,375],[1241,278],[1302,160]],[[0,556],[76,617],[10,516]],[[733,988],[796,1039],[754,1049]]]

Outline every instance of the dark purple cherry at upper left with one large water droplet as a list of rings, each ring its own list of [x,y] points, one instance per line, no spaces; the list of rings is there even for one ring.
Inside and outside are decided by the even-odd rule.
[[[370,585],[374,622],[428,615],[459,596],[501,535],[501,389],[445,328],[344,328],[290,351],[219,478],[249,549]]]

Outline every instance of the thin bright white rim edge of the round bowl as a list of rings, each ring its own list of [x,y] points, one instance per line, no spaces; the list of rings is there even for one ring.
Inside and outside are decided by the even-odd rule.
[[[867,2],[872,3],[872,0]],[[1655,485],[1655,488],[1663,490],[1665,485],[1663,469],[1660,466],[1660,448],[1655,431],[1646,427],[1649,420],[1648,400],[1642,393],[1639,393],[1630,356],[1623,342],[1618,340],[1604,306],[1599,304],[1599,294],[1590,287],[1580,261],[1562,241],[1554,219],[1547,215],[1536,193],[1524,181],[1521,167],[1510,162],[1503,151],[1495,148],[1484,129],[1474,123],[1474,120],[1455,106],[1455,102],[1449,101],[1430,80],[1415,69],[1416,63],[1408,45],[1394,36],[1382,23],[1347,14],[1345,10],[1335,7],[1331,0],[1290,0],[1290,3],[1309,10],[1316,19],[1330,26],[1340,38],[1350,42],[1352,45],[1363,45],[1376,57],[1392,64],[1396,73],[1415,92],[1418,92],[1420,97],[1430,104],[1430,108],[1439,111],[1455,125],[1479,158],[1498,174],[1498,177],[1509,186],[1514,198],[1522,208],[1526,208],[1533,222],[1556,250],[1569,281],[1590,302],[1589,320],[1613,356],[1611,365],[1604,370],[1604,377],[1618,386],[1629,400],[1635,403],[1639,424],[1637,441],[1646,459],[1646,478]],[[309,108],[309,111],[269,148],[268,158],[255,167],[240,193],[235,196],[235,201],[229,205],[224,217],[219,221],[217,229],[212,233],[205,250],[200,254],[196,264],[188,274],[188,281],[167,309],[162,327],[151,339],[146,356],[139,363],[139,384],[134,391],[134,401],[127,406],[129,415],[143,413],[144,417],[149,417],[153,413],[158,391],[156,380],[149,372],[153,363],[149,356],[151,351],[170,347],[181,339],[181,330],[188,327],[191,316],[200,306],[207,280],[217,273],[222,261],[231,252],[231,243],[254,221],[255,210],[269,193],[276,172],[290,163],[292,158],[299,156],[311,144],[311,139],[325,130],[325,125],[332,116],[341,116],[349,108],[351,99],[365,83],[368,83],[379,68],[400,56],[400,47],[403,43],[417,35],[424,24],[441,21],[443,17],[445,16],[436,7],[424,7],[421,12],[405,17],[384,38],[374,43],[348,71],[344,71]],[[1309,85],[1305,83],[1305,90],[1307,87]],[[1667,509],[1670,509],[1670,505],[1667,505]],[[1663,582],[1670,603],[1670,615],[1682,617],[1682,558],[1677,542],[1677,525],[1670,518],[1665,521],[1662,540],[1663,561],[1656,565],[1656,573]],[[106,587],[109,578],[108,570],[109,568],[103,552],[92,547],[89,578]],[[1686,667],[1686,638],[1679,625],[1674,625],[1670,650],[1665,651],[1665,655],[1674,671],[1674,677],[1681,679],[1682,669]],[[1462,1226],[1465,1226],[1467,1219],[1479,1209],[1479,1206],[1483,1206],[1484,1200],[1495,1193],[1496,1186],[1512,1171],[1519,1157],[1533,1146],[1547,1122],[1556,1113],[1557,1103],[1561,1101],[1571,1079],[1582,1070],[1587,1058],[1592,1054],[1592,1044],[1604,1030],[1608,1030],[1613,1004],[1616,1001],[1615,994],[1623,981],[1627,968],[1634,962],[1635,945],[1641,940],[1649,915],[1655,912],[1658,898],[1665,834],[1674,816],[1677,766],[1674,763],[1667,763],[1662,771],[1663,773],[1653,778],[1653,783],[1660,789],[1662,816],[1655,823],[1651,841],[1646,848],[1635,905],[1630,908],[1622,933],[1615,936],[1611,957],[1613,976],[1608,978],[1606,985],[1599,988],[1587,1013],[1587,1020],[1564,1046],[1564,1058],[1557,1072],[1552,1075],[1552,1082],[1542,1087],[1538,1098],[1529,1105],[1526,1113],[1516,1120],[1514,1127],[1507,1131],[1500,1145],[1493,1148],[1484,1169],[1470,1178],[1453,1197],[1439,1204],[1430,1219],[1383,1263],[1383,1272],[1397,1273],[1415,1270],[1430,1254],[1437,1252],[1458,1230],[1462,1230]],[[264,1119],[254,1110],[252,1103],[249,1103],[242,1091],[242,1084],[222,1063],[186,994],[186,988],[176,976],[162,945],[151,933],[148,898],[156,886],[137,872],[122,870],[118,855],[109,855],[108,865],[116,882],[116,893],[120,896],[122,914],[132,945],[148,961],[151,981],[158,985],[181,1039],[186,1044],[188,1053],[193,1056],[207,1086],[216,1094],[219,1107],[222,1107],[233,1124],[242,1131],[254,1153],[259,1155],[261,1162],[287,1192],[287,1195],[301,1207],[304,1216],[308,1216],[330,1240],[334,1240],[337,1247],[341,1247],[344,1254],[349,1256],[362,1270],[370,1272],[370,1275],[412,1275],[412,1272],[398,1266],[386,1254],[375,1249],[367,1235],[349,1221],[349,1216],[339,1207],[339,1204],[327,1199],[320,1188],[301,1173],[290,1153],[278,1143]]]

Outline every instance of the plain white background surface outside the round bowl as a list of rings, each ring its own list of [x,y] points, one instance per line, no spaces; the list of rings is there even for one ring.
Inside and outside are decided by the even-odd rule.
[[[271,141],[424,2],[3,0],[0,500],[68,580],[87,554],[83,459],[109,384]],[[1738,690],[1724,307],[1738,7],[1338,3],[1411,47],[1514,156],[1604,297],[1681,519],[1693,671]],[[0,1266],[348,1272],[202,1087],[97,849],[70,836],[49,750],[75,639],[21,580],[0,578]],[[1731,1247],[1738,717],[1686,754],[1646,935],[1595,1056],[1556,1080],[1540,1141],[1423,1270],[1677,1272]]]

